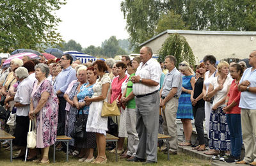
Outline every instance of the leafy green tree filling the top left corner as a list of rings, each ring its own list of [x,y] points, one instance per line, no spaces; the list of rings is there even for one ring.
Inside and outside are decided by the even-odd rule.
[[[44,49],[61,42],[54,11],[66,0],[5,0],[0,2],[0,49]]]

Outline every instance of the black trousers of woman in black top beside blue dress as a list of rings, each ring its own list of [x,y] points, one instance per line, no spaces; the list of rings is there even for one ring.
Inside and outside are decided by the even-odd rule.
[[[193,115],[195,118],[195,127],[196,127],[196,133],[197,133],[197,139],[200,145],[205,144],[204,140],[204,118],[205,118],[205,112],[204,107],[193,107]]]

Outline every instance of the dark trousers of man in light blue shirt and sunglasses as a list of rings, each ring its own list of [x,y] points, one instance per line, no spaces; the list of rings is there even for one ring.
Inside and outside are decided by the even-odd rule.
[[[64,135],[65,121],[66,121],[66,103],[67,101],[63,97],[59,98],[59,114],[58,114],[58,135]]]

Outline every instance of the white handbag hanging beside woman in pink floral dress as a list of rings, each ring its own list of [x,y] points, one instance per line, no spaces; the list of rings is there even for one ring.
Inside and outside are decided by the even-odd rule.
[[[31,123],[32,123],[32,131],[31,130]],[[34,149],[36,147],[36,121],[35,117],[33,121],[29,121],[29,130],[28,130],[28,137],[27,137],[27,146],[28,148]]]

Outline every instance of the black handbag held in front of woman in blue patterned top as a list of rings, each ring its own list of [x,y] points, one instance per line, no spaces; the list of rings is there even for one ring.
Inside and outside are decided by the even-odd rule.
[[[82,110],[82,112],[83,112],[83,110]],[[79,114],[76,115],[74,129],[70,133],[70,135],[73,139],[84,139],[84,137],[86,136],[85,122],[86,121],[84,118],[84,112],[83,112],[82,116],[79,116]]]

